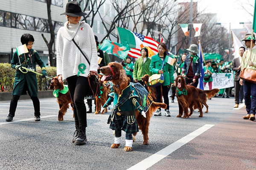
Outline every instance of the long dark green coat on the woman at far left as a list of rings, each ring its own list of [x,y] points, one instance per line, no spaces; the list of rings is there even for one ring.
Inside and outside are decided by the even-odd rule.
[[[31,49],[33,67],[36,69],[35,62],[37,62],[41,68],[45,68],[44,62],[43,62],[43,60],[41,60],[38,52],[35,52],[33,54],[33,51],[34,50]],[[31,65],[29,53],[26,53],[26,59],[28,59],[28,61],[27,61],[28,65]],[[23,63],[23,65],[26,66],[24,54],[21,54],[20,62],[21,62],[21,64]],[[13,54],[13,57],[12,57],[11,67],[16,69],[15,67],[17,65],[20,65],[20,62],[19,62],[19,59],[17,56],[17,52],[15,51]],[[21,96],[23,94],[26,94],[26,91],[24,90],[25,81],[27,82],[27,85],[29,87],[29,92],[30,92],[31,97],[37,97],[38,96],[38,81],[36,78],[36,74],[32,73],[32,72],[27,72],[26,74],[23,74],[19,70],[17,70],[16,74],[15,74],[12,95]]]

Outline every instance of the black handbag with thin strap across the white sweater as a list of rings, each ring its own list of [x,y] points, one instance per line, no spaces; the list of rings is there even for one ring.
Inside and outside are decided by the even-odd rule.
[[[87,59],[86,55],[84,54],[84,52],[81,50],[81,48],[77,45],[77,43],[75,42],[75,40],[72,40],[76,47],[79,49],[79,51],[81,51],[81,54],[83,54],[84,58],[87,60],[87,62],[90,65],[90,61],[89,59]],[[99,77],[98,75],[94,75],[92,76],[91,74],[88,75],[88,83],[90,86],[90,89],[86,91],[85,93],[85,99],[93,99],[96,96],[100,96],[100,85],[99,85]]]

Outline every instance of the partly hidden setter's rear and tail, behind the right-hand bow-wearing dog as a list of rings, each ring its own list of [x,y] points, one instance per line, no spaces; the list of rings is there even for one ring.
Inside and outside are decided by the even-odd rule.
[[[200,88],[197,88],[198,92],[199,92],[199,99],[200,102],[202,104],[202,108],[204,108],[204,105],[206,107],[206,111],[205,113],[208,113],[208,105],[206,104],[207,102],[207,98],[210,99],[213,96],[215,96],[215,94],[217,94],[220,90],[218,88],[214,88],[212,90],[201,90]]]

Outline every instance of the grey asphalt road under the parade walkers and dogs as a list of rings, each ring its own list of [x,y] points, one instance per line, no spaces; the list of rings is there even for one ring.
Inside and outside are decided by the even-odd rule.
[[[131,152],[123,150],[125,133],[120,147],[110,148],[113,131],[106,123],[108,113],[87,113],[87,143],[76,146],[71,142],[73,112],[68,109],[59,122],[54,98],[40,99],[40,122],[34,121],[32,101],[20,100],[14,121],[6,123],[9,104],[0,102],[1,170],[256,169],[256,122],[242,119],[246,111],[233,109],[234,98],[212,98],[207,101],[209,113],[201,118],[194,111],[189,119],[175,117],[175,99],[170,102],[171,117],[151,118],[150,144],[142,144],[139,132]]]

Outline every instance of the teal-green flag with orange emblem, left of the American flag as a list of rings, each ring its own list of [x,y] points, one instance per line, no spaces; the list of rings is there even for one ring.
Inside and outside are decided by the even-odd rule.
[[[123,44],[119,44],[117,42],[104,40],[102,43],[101,50],[107,51],[108,53],[111,53],[120,59],[125,59],[127,57],[128,52],[131,50],[127,42],[124,42]]]

